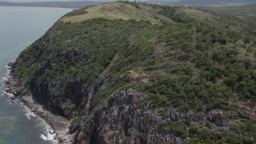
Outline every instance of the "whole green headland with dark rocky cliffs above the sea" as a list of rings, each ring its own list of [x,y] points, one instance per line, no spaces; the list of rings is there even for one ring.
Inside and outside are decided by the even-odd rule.
[[[67,117],[65,144],[251,144],[255,64],[240,19],[118,1],[59,19],[9,64],[9,91]]]

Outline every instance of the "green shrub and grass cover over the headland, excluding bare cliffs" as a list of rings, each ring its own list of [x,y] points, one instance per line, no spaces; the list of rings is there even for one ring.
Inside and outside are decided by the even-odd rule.
[[[131,13],[121,13],[120,7]],[[145,12],[144,19],[136,11]],[[84,108],[88,93],[79,91],[96,83],[88,113],[105,101],[110,107],[114,91],[132,88],[145,93],[144,102],[157,107],[160,116],[169,107],[181,113],[221,109],[231,115],[238,112],[231,108],[236,101],[255,106],[255,42],[251,27],[234,17],[185,7],[107,3],[62,17],[20,54],[18,74],[32,92],[47,87],[60,105],[68,103],[65,109]],[[191,143],[253,142],[255,122],[234,117],[239,122],[230,118],[228,132],[210,121],[201,127],[184,119],[162,123],[157,132],[190,137],[186,142]],[[79,123],[75,117],[70,132]],[[118,142],[119,134],[113,137]]]

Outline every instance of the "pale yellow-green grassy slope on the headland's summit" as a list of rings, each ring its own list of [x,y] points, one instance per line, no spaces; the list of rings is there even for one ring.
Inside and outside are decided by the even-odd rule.
[[[86,19],[102,17],[104,19],[135,19],[136,21],[150,21],[153,24],[160,24],[163,21],[171,20],[157,13],[157,10],[149,6],[140,5],[139,8],[126,3],[106,3],[84,9],[83,14],[77,16],[65,16],[61,20],[65,22],[80,22]]]

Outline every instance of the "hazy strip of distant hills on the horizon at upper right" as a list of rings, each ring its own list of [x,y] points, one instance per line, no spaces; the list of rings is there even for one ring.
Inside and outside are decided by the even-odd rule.
[[[256,3],[256,0],[181,0],[175,5],[232,5]]]

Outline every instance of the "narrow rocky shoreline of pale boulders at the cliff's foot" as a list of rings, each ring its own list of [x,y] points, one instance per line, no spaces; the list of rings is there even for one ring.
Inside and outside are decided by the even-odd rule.
[[[53,115],[45,106],[39,104],[32,97],[31,93],[27,93],[24,90],[24,86],[21,85],[15,75],[12,74],[12,65],[13,63],[8,64],[10,74],[7,80],[5,80],[6,89],[3,95],[10,96],[11,103],[21,102],[23,105],[31,109],[31,112],[45,120],[45,122],[53,129],[53,131],[49,130],[49,133],[53,136],[53,140],[57,140],[59,144],[71,144],[74,141],[74,136],[69,133],[70,121],[68,121],[67,118]],[[11,93],[13,96],[8,93]],[[45,128],[45,131],[48,130]]]

